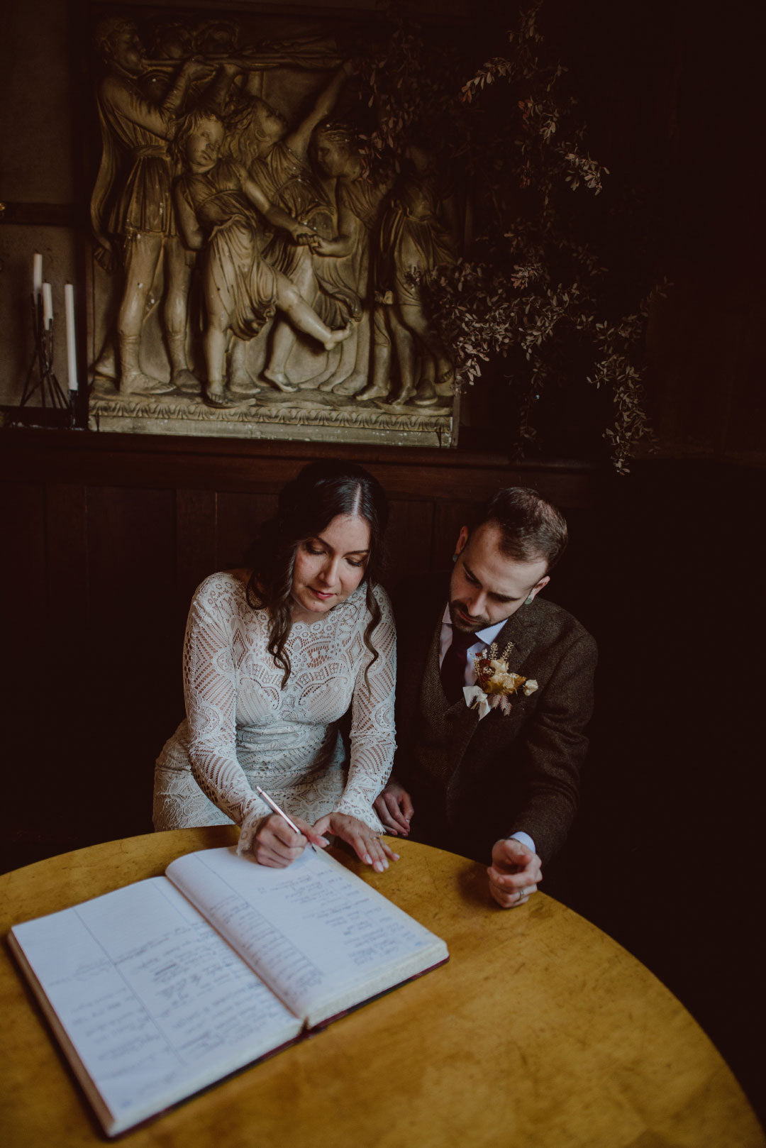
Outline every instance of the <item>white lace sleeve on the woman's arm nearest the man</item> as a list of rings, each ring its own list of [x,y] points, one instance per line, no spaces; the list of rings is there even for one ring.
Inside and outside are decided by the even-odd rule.
[[[378,658],[372,661],[372,654],[364,647],[365,657],[356,674],[351,701],[351,760],[338,812],[350,813],[376,832],[381,832],[382,825],[372,802],[388,781],[396,748],[396,629],[386,591],[382,587],[376,587],[373,594],[381,614],[372,634]],[[367,625],[366,613],[363,625]],[[364,672],[367,667],[365,680]]]

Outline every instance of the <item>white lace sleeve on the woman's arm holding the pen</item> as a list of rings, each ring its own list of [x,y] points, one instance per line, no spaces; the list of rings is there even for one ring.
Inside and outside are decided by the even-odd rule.
[[[192,600],[184,641],[188,757],[200,789],[241,825],[247,848],[270,810],[253,792],[237,760],[237,674],[232,641],[238,605],[231,576],[214,574]]]

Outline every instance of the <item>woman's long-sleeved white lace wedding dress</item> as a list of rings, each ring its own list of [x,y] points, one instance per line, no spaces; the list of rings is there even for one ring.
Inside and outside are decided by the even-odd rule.
[[[223,573],[194,595],[184,643],[187,716],[156,761],[154,828],[234,822],[239,848],[247,848],[271,812],[255,793],[261,785],[308,822],[338,810],[380,832],[372,802],[395,748],[396,642],[386,591],[373,590],[382,615],[372,635],[376,661],[364,644],[362,583],[319,621],[293,623],[292,672],[281,689],[283,670],[266,650],[266,612],[253,611],[245,590]],[[349,705],[347,761],[335,722]]]

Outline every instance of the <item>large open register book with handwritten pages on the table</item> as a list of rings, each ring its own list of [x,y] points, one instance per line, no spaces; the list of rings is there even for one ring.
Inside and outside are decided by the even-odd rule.
[[[9,941],[108,1135],[448,959],[314,850],[287,869],[189,853]]]

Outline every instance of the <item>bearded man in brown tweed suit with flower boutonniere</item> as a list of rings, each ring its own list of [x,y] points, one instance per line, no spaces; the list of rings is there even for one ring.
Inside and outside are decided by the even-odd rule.
[[[564,843],[588,746],[596,644],[537,598],[566,541],[556,507],[509,487],[462,528],[449,579],[397,602],[400,748],[376,810],[388,832],[490,861],[503,908]]]

